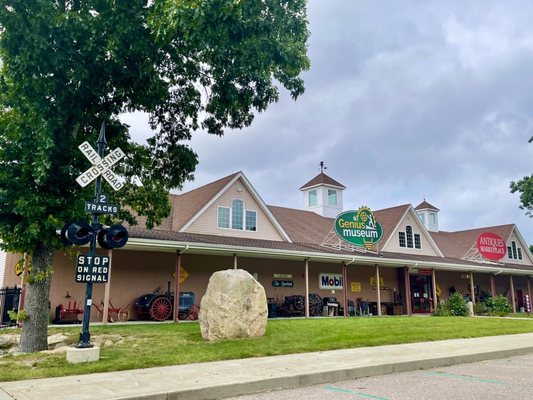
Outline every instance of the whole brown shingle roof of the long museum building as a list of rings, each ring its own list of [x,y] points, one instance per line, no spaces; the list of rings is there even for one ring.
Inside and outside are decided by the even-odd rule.
[[[144,224],[137,227],[129,227],[132,238],[158,239],[181,241],[190,243],[215,244],[227,246],[242,246],[265,249],[279,249],[291,251],[305,251],[311,253],[332,253],[332,254],[350,254],[358,253],[349,252],[342,249],[331,249],[321,246],[328,234],[333,229],[333,218],[322,217],[311,211],[291,209],[285,207],[268,206],[268,209],[279,222],[283,230],[287,233],[293,243],[273,240],[258,240],[237,238],[230,236],[188,234],[178,232],[187,222],[191,220],[206,204],[208,204],[221,190],[228,185],[241,172],[228,175],[210,184],[184,193],[182,195],[170,195],[172,203],[172,215],[165,219],[156,229],[147,230]],[[325,174],[321,174],[324,175]],[[319,175],[320,176],[320,175]],[[329,178],[329,177],[328,177]],[[309,183],[312,183],[310,181]],[[335,182],[335,181],[333,181]],[[342,186],[335,182],[336,186]],[[305,187],[305,185],[304,185]],[[411,207],[410,204],[404,204],[396,207],[390,207],[383,210],[374,211],[377,220],[383,227],[384,237],[381,244],[385,243],[394,229],[400,222],[401,218]],[[420,208],[435,209],[434,206],[427,202],[417,206]],[[142,218],[141,218],[142,220]],[[141,222],[141,221],[140,221]],[[475,245],[477,237],[483,232],[493,232],[507,240],[514,229],[513,224],[500,225],[486,228],[477,228],[458,232],[430,232],[431,237],[442,251],[444,257],[423,256],[417,254],[399,254],[381,252],[384,257],[398,260],[420,260],[427,262],[441,262],[452,264],[476,265],[474,261],[463,260],[462,258]],[[373,249],[374,251],[376,248]],[[365,253],[365,256],[379,257],[371,252]],[[533,266],[505,264],[502,266],[506,269],[531,269]]]

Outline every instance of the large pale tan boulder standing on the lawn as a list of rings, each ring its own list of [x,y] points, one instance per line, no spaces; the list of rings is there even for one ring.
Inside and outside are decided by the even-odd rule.
[[[205,340],[263,336],[267,317],[265,289],[247,271],[229,269],[211,276],[200,304]]]

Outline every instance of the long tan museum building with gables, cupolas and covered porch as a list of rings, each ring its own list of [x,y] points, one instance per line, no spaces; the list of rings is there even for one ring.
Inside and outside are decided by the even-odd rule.
[[[118,310],[130,320],[186,318],[213,272],[232,268],[263,285],[270,317],[430,313],[455,291],[474,303],[502,294],[517,312],[531,298],[533,256],[516,225],[440,231],[440,210],[425,200],[373,212],[358,205],[350,214],[345,189],[321,172],[300,187],[301,209],[269,206],[237,172],[169,195],[172,211],[159,226],[149,230],[141,220],[128,227],[125,247],[99,250],[109,255],[109,275],[93,285],[91,320],[102,318],[104,304],[110,319]],[[379,241],[361,246],[342,237],[373,235],[355,230],[359,214],[380,226]],[[354,215],[341,220],[341,234],[339,215]],[[4,287],[21,284],[21,257],[8,254]],[[60,308],[78,318],[84,296],[76,257],[57,251],[51,318],[69,317],[58,315]]]

